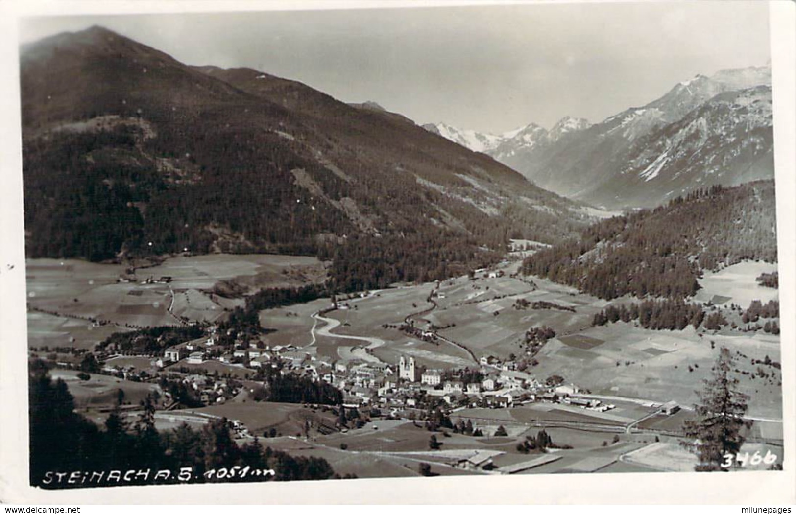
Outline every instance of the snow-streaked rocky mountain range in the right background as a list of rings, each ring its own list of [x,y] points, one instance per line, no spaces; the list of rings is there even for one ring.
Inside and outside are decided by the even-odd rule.
[[[771,67],[676,84],[600,123],[565,117],[505,134],[427,130],[517,169],[535,184],[606,208],[650,207],[709,185],[774,177]]]

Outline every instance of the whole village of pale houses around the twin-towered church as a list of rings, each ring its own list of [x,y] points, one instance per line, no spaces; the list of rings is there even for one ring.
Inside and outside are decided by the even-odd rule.
[[[53,364],[59,368],[84,369],[81,363],[85,362],[85,355],[79,352],[72,359],[59,356]],[[158,383],[164,377],[179,376],[204,406],[251,394],[255,391],[252,387],[263,384],[267,372],[275,372],[336,387],[342,393],[343,407],[370,407],[371,411],[391,415],[440,406],[446,411],[456,411],[537,402],[560,403],[595,412],[615,408],[600,399],[580,396],[579,393],[589,391],[582,391],[575,384],[564,384],[563,377],[538,380],[529,372],[519,371],[515,360],[481,356],[478,367],[432,369],[417,364],[413,356],[400,356],[395,365],[390,365],[356,359],[333,360],[330,356],[319,356],[317,347],[313,346],[270,346],[262,341],[244,345],[237,340],[234,348],[229,348],[219,344],[217,325],[206,328],[202,337],[166,348],[159,356],[123,355],[115,353],[111,345],[96,354],[96,361],[96,372],[133,382]],[[170,392],[164,392],[163,408],[185,407],[179,402]],[[665,414],[673,414],[679,406],[669,402],[662,408]]]

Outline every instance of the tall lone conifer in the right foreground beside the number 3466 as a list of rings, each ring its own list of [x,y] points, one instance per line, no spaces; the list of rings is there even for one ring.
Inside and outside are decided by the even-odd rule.
[[[712,367],[712,378],[703,380],[704,388],[697,392],[701,402],[695,406],[697,418],[683,426],[689,438],[683,445],[699,455],[696,471],[726,470],[722,464],[734,461],[743,445],[741,429],[751,426],[743,419],[748,397],[738,391],[738,379],[731,376],[733,368],[732,354],[723,347]]]

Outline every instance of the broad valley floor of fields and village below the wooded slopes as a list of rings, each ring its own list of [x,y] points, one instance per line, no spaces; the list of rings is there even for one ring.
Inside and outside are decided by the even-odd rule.
[[[239,445],[263,438],[357,477],[691,469],[679,438],[694,415],[693,370],[711,362],[712,341],[743,350],[743,371],[767,366],[775,380],[778,354],[766,337],[747,353],[733,333],[593,326],[606,302],[517,275],[517,262],[267,306],[244,319],[233,311],[246,300],[218,295],[199,259],[176,258],[135,282],[89,277],[96,300],[49,300],[42,285],[32,316],[68,313],[75,321],[58,319],[79,328],[70,345],[60,333],[37,336],[31,357],[66,381],[97,424],[113,411],[135,424],[150,398],[163,432],[224,419]],[[84,282],[64,268],[36,273]],[[108,309],[100,298],[123,305]],[[781,424],[766,403],[756,407],[747,444],[776,453]]]

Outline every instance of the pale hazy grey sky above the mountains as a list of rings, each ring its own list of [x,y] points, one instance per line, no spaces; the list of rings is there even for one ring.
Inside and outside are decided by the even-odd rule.
[[[186,64],[257,68],[418,123],[494,132],[601,121],[770,53],[756,1],[27,18],[21,39],[94,24]]]

